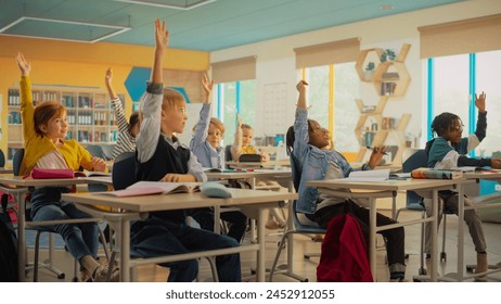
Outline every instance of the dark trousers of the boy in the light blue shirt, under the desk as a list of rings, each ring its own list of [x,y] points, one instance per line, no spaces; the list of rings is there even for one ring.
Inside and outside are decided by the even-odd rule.
[[[221,208],[221,219],[230,223],[228,237],[235,239],[239,243],[247,228],[247,217],[239,211],[223,212]],[[213,208],[195,208],[192,210],[190,216],[193,217],[202,229],[214,231],[214,210]]]

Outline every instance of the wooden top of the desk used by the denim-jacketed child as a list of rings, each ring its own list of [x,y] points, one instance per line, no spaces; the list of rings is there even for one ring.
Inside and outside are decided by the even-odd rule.
[[[451,187],[453,185],[472,183],[470,179],[406,179],[385,181],[354,181],[345,179],[327,179],[308,181],[309,187],[329,189],[361,189],[376,191],[403,191],[429,188]]]

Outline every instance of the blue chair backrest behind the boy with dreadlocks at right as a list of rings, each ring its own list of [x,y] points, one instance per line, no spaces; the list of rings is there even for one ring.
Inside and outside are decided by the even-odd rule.
[[[426,167],[427,162],[428,155],[424,149],[407,148],[402,153],[402,172],[410,173],[413,169]],[[423,198],[414,191],[407,191],[406,207],[422,210],[424,207]]]

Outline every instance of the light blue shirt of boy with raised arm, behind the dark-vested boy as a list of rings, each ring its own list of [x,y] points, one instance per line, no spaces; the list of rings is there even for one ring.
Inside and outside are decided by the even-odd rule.
[[[200,111],[200,119],[195,126],[195,136],[190,141],[190,150],[198,159],[198,163],[206,168],[224,168],[224,149],[216,149],[207,141],[210,124],[210,104],[204,103]]]

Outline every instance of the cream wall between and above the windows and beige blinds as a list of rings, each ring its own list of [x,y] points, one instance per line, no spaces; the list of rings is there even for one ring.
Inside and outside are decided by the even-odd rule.
[[[411,75],[410,86],[404,97],[390,98],[383,114],[384,116],[400,117],[403,113],[411,113],[412,117],[407,132],[414,136],[422,134],[419,144],[423,145],[426,137],[426,131],[423,128],[423,126],[426,126],[425,71],[423,68],[423,61],[420,59],[420,34],[418,27],[492,15],[500,12],[501,0],[464,1],[220,50],[210,53],[210,62],[251,55],[257,58],[256,87],[258,100],[256,104],[256,117],[264,117],[264,111],[266,110],[266,104],[264,104],[265,88],[274,84],[286,84],[285,98],[287,100],[287,107],[284,109],[280,118],[277,119],[282,122],[283,125],[280,128],[283,130],[294,122],[294,111],[297,101],[295,85],[298,80],[298,73],[295,68],[294,48],[354,37],[360,38],[361,50],[389,48],[398,52],[402,43],[410,43],[411,49],[406,60],[407,68]],[[371,84],[361,84],[360,98],[367,104],[377,101]],[[354,118],[357,117],[358,113],[354,113]],[[265,132],[273,134],[278,131],[268,129],[266,122],[256,124],[255,129],[258,136]]]

